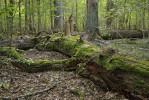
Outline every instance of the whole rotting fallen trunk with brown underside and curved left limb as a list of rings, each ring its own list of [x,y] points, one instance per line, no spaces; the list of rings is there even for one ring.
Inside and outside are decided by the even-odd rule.
[[[117,71],[121,71],[124,75],[129,72],[130,75],[140,73],[141,77],[145,76],[148,78],[148,62],[114,56],[114,54],[108,52],[102,53],[100,48],[87,41],[80,40],[79,36],[70,38],[51,36],[46,43],[45,40],[46,37],[40,38],[39,43],[37,44],[39,50],[57,50],[72,58],[61,61],[42,60],[31,62],[24,60],[24,58],[20,56],[15,56],[17,55],[17,52],[12,50],[13,52],[16,52],[12,54],[12,56],[14,56],[13,58],[20,59],[20,61],[13,60],[12,64],[19,68],[24,68],[23,70],[29,72],[43,71],[47,69],[64,70],[72,68],[76,70],[79,75],[93,80],[94,83],[100,85],[105,91],[116,91],[131,99],[138,99],[139,97],[137,95],[147,97],[148,87],[146,89],[142,88],[138,92],[134,87],[130,87],[130,84],[127,84],[127,82],[122,79],[123,77],[119,79],[119,76],[117,76],[119,73],[117,74]],[[42,43],[43,41],[45,44]],[[5,50],[0,48],[0,53],[8,54],[9,50],[9,48]],[[110,70],[110,72],[107,70]],[[135,79],[136,78],[133,79],[134,82]]]

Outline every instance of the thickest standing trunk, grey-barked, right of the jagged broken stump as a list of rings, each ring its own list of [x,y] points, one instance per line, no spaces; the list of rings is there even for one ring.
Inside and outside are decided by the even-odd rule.
[[[88,40],[94,40],[98,34],[98,0],[87,0],[86,34]]]

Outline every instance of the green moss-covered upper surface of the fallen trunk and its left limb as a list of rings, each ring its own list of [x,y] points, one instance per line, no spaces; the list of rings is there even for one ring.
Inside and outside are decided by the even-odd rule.
[[[71,63],[73,60],[79,62],[88,62],[92,61],[97,63],[99,66],[105,67],[107,70],[116,70],[121,69],[124,71],[132,71],[140,73],[143,76],[149,77],[149,62],[147,61],[136,61],[130,58],[113,56],[112,53],[102,53],[100,48],[95,45],[81,40],[79,36],[67,37],[55,37],[55,36],[44,36],[40,38],[36,46],[39,50],[49,50],[49,51],[59,51],[63,54],[69,55],[70,59],[52,61],[52,60],[39,60],[39,61],[29,61],[21,57],[19,53],[14,48],[1,47],[0,53],[11,56],[14,59],[19,59],[18,64],[21,65],[24,63],[26,69],[44,69],[48,65],[60,64],[63,66],[64,63]],[[35,40],[34,40],[35,41]],[[46,41],[46,42],[45,42]],[[43,44],[44,43],[44,44]],[[112,54],[112,55],[111,55]],[[15,61],[16,62],[16,61]],[[78,63],[79,64],[79,63]],[[55,65],[54,65],[55,66]],[[37,68],[36,68],[37,67]]]

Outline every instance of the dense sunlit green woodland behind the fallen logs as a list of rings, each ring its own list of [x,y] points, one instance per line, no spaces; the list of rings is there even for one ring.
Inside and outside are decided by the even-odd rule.
[[[90,0],[87,0],[90,1]],[[92,1],[92,0],[91,0]],[[95,0],[96,1],[96,0]],[[149,30],[148,0],[99,0],[98,29]],[[0,35],[54,31],[73,15],[74,30],[86,30],[86,0],[1,0]],[[61,18],[61,23],[57,23]]]

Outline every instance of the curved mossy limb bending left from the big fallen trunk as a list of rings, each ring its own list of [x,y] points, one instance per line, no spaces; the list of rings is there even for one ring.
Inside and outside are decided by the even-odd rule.
[[[69,70],[65,68],[66,64],[75,60],[73,58],[64,60],[38,60],[32,61],[23,58],[14,48],[2,47],[0,48],[0,55],[11,56],[11,63],[26,72],[37,72],[45,70]]]

